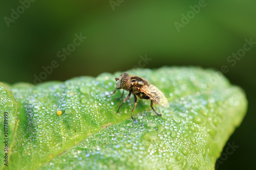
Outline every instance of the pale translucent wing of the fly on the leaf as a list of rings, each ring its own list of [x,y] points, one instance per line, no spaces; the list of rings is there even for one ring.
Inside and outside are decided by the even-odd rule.
[[[150,85],[148,88],[142,88],[142,92],[150,96],[154,102],[162,105],[163,107],[169,107],[169,103],[165,98],[163,92],[156,86]]]

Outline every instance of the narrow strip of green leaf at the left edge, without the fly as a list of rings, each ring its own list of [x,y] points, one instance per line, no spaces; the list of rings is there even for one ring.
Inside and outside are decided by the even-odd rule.
[[[18,128],[16,111],[17,103],[11,90],[7,89],[3,83],[0,83],[0,156],[2,158],[0,169],[10,165],[10,154]]]

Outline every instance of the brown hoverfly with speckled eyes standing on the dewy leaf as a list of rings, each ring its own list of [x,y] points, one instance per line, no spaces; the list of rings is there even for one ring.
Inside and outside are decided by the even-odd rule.
[[[149,84],[145,79],[142,79],[141,77],[130,76],[126,73],[123,73],[123,74],[121,74],[121,76],[119,78],[115,78],[115,80],[118,82],[116,83],[115,91],[113,91],[113,93],[111,95],[115,94],[117,89],[124,89],[124,90],[129,91],[129,94],[126,96],[126,98],[120,104],[120,106],[117,110],[117,113],[119,112],[119,109],[122,106],[122,104],[127,99],[130,98],[131,94],[134,95],[134,101],[135,101],[133,110],[135,109],[135,107],[138,103],[137,96],[140,99],[151,100],[151,107],[158,116],[162,116],[162,115],[156,112],[156,110],[153,107],[153,102],[160,104],[163,107],[169,106],[168,101],[165,98],[163,92],[160,91],[156,86]],[[123,93],[122,93],[122,96],[123,96]],[[132,110],[132,114],[131,114],[132,119],[133,119],[133,110]]]

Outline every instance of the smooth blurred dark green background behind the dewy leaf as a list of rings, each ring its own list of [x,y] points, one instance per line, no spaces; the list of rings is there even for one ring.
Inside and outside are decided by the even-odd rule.
[[[256,1],[31,1],[1,2],[1,82],[37,83],[35,76],[65,81],[136,66],[226,66],[224,75],[245,90],[249,106],[228,141],[239,148],[220,160],[218,169],[252,166]],[[87,38],[74,42],[79,35]],[[245,39],[254,43],[247,51]],[[54,60],[55,68],[48,67]],[[49,74],[42,73],[44,67]]]

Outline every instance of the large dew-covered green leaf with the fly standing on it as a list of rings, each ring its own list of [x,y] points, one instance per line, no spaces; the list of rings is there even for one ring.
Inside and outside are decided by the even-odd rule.
[[[133,98],[116,114],[121,91],[109,96],[116,81],[108,73],[11,86],[20,123],[8,168],[214,169],[246,113],[241,88],[219,72],[198,67],[127,73],[165,94],[170,106],[155,105],[162,117],[148,100],[139,100],[131,120]]]

